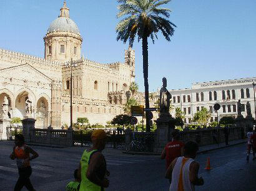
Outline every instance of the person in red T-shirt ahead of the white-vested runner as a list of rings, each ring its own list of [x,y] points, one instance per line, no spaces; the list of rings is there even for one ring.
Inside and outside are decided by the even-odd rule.
[[[184,143],[180,141],[180,132],[177,129],[172,131],[172,141],[166,144],[162,154],[161,159],[165,159],[166,169],[169,167],[170,163],[177,157],[181,156],[181,150],[184,146]]]

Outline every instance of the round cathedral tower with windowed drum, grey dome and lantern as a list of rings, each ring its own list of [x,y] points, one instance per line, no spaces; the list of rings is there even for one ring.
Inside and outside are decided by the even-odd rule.
[[[74,21],[69,17],[66,1],[61,14],[52,21],[44,37],[44,58],[58,62],[81,58],[82,37]]]

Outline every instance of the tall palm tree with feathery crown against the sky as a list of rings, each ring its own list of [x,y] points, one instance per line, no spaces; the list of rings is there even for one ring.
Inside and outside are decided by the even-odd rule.
[[[136,35],[138,36],[138,41],[142,39],[145,108],[149,108],[147,39],[150,37],[154,43],[154,39],[157,39],[157,32],[160,30],[165,39],[170,41],[170,37],[174,34],[174,27],[176,26],[164,18],[170,16],[170,9],[159,7],[167,4],[170,0],[117,1],[120,3],[117,7],[119,9],[117,18],[124,17],[116,27],[117,40],[122,40],[126,43],[129,39],[129,45],[132,47]],[[149,112],[146,112],[146,128],[147,132],[150,132]]]

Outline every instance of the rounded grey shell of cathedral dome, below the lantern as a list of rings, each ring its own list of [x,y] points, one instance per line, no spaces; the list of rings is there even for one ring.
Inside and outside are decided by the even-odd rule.
[[[80,35],[79,29],[72,19],[68,17],[58,17],[54,21],[52,21],[47,33],[49,32],[56,32],[56,31],[63,31],[63,32],[74,32]]]

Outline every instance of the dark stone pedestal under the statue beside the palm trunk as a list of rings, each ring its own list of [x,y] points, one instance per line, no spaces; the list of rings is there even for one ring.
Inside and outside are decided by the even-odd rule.
[[[176,119],[172,116],[160,116],[157,124],[154,152],[162,152],[167,142],[172,140],[171,133],[175,129]]]

